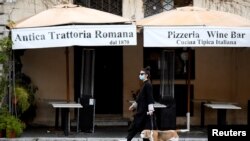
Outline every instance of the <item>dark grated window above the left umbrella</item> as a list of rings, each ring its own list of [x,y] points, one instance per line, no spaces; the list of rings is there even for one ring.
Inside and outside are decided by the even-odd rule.
[[[122,16],[122,0],[75,0],[75,4]]]

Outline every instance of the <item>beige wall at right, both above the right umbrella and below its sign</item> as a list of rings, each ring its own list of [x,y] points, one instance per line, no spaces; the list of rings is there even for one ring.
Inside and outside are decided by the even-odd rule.
[[[193,0],[194,6],[225,11],[250,19],[250,1],[245,0]],[[229,110],[228,122],[247,123],[247,100],[250,100],[250,51],[248,48],[196,49],[195,98],[236,102],[242,110]],[[214,69],[213,69],[214,68]],[[209,72],[209,73],[207,73]],[[199,106],[195,106],[199,114]],[[216,113],[205,121],[216,122]],[[196,118],[195,118],[196,119]],[[197,119],[199,119],[197,117]]]

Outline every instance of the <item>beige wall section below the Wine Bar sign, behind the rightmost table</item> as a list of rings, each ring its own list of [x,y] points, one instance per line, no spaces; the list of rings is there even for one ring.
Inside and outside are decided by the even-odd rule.
[[[238,74],[241,73],[239,56],[241,50],[249,53],[247,48],[197,48],[196,79],[194,81],[194,98],[211,99],[221,102],[233,102],[242,106],[242,110],[229,110],[228,123],[246,123],[246,103],[250,96],[239,93]],[[247,59],[247,56],[245,56]],[[250,57],[250,56],[249,56]],[[248,70],[250,67],[247,68]],[[244,90],[249,91],[249,88]],[[244,96],[244,99],[240,97]],[[199,124],[200,103],[194,103],[194,117],[191,124]],[[216,111],[205,109],[205,124],[216,123]]]

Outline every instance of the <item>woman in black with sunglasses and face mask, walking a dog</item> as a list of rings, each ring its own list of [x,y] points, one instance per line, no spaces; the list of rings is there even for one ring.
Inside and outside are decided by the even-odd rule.
[[[128,130],[127,141],[131,141],[138,132],[144,129],[153,129],[154,98],[150,81],[150,67],[140,71],[139,79],[143,81],[143,85],[136,101],[129,107],[129,110],[135,110],[136,113]],[[147,141],[147,139],[143,139],[143,141]]]

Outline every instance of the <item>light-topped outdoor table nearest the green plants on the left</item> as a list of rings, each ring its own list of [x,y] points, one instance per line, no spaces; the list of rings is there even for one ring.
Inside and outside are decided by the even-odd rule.
[[[58,126],[58,116],[59,116],[59,109],[61,109],[61,128],[64,131],[65,136],[68,136],[70,132],[70,108],[82,108],[82,105],[80,103],[75,102],[50,102],[53,108],[56,109],[56,120],[55,120],[55,126]],[[79,114],[79,113],[78,113]],[[77,114],[77,117],[79,115]],[[79,121],[77,120],[77,131],[79,126]]]

